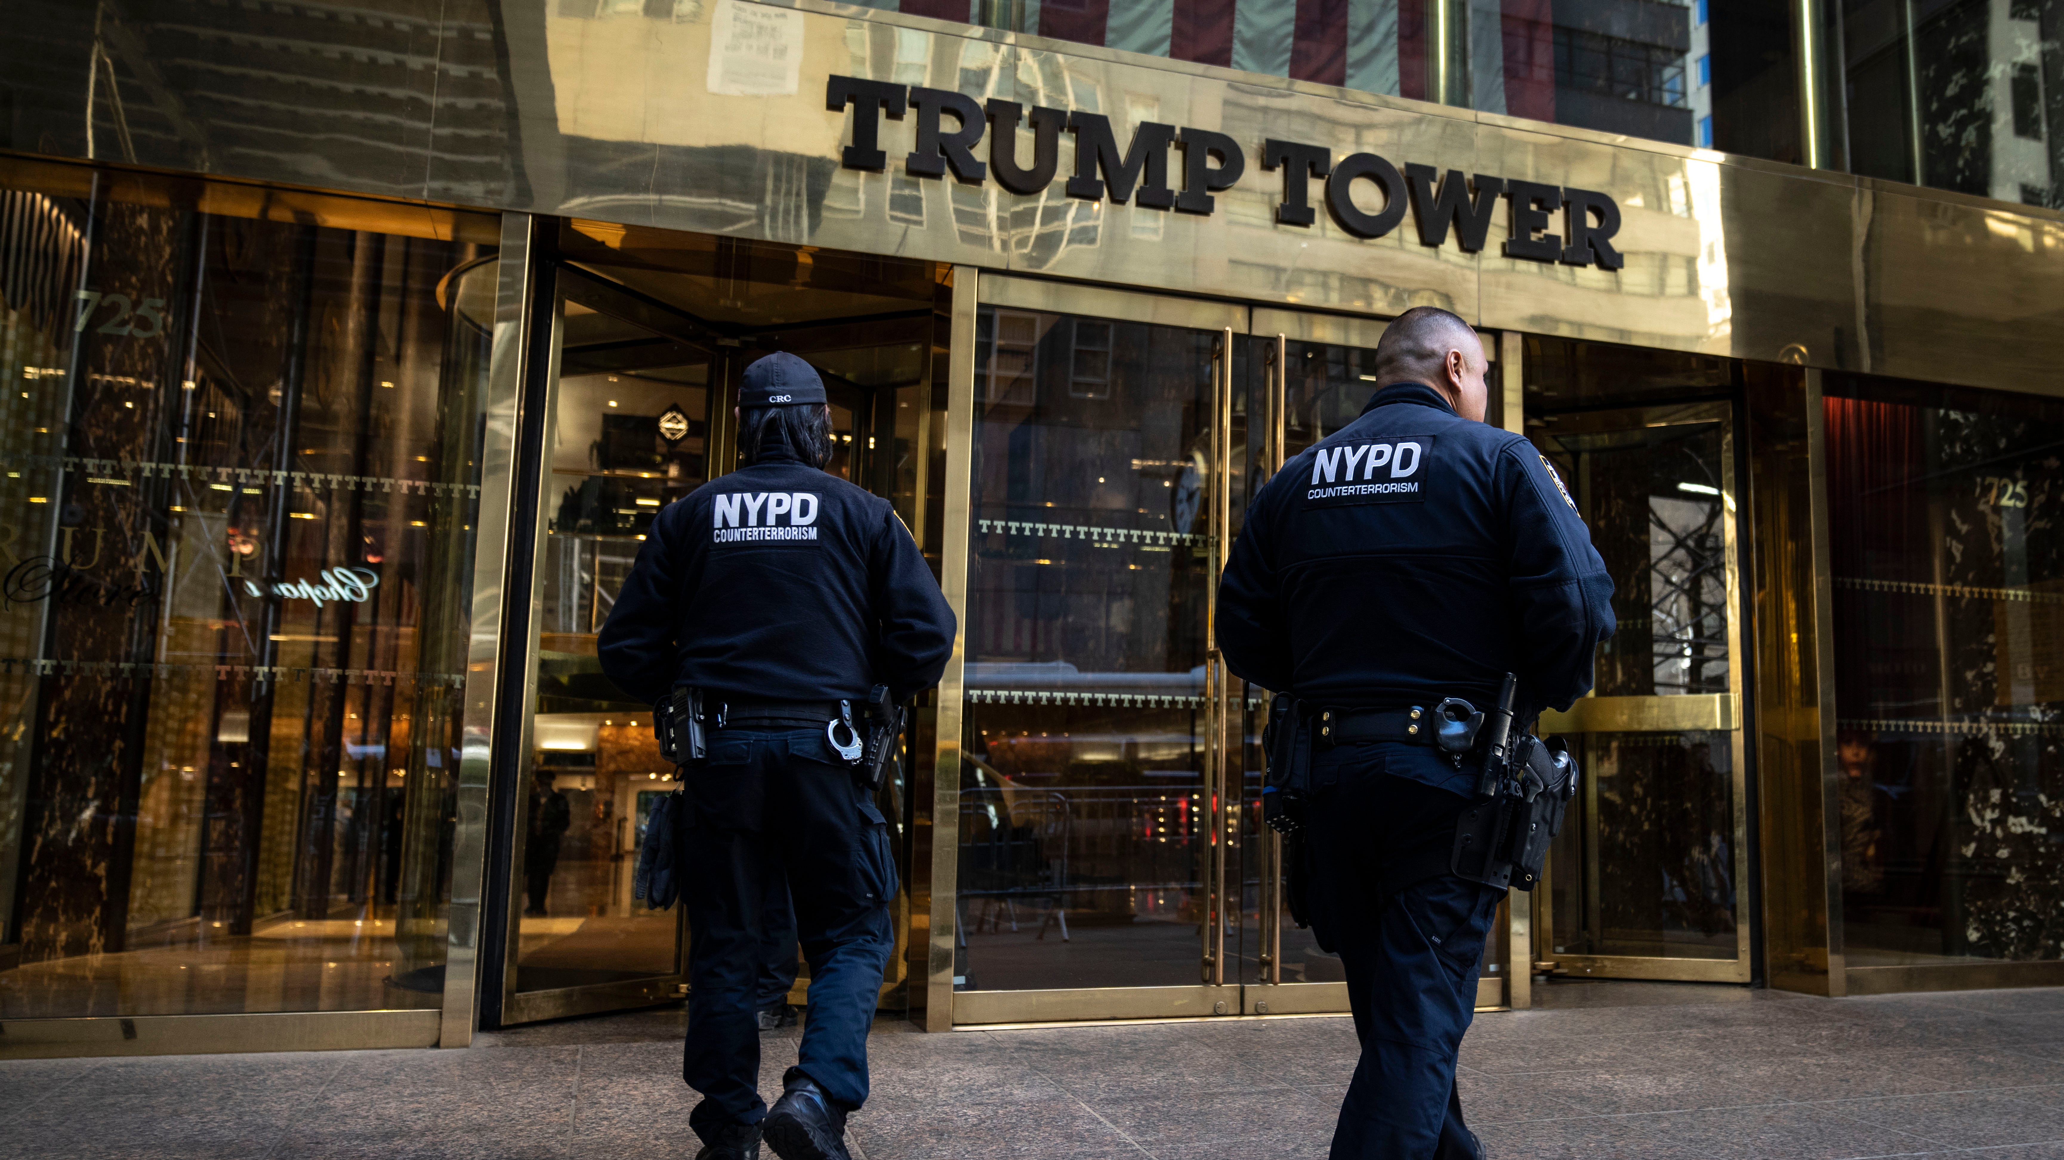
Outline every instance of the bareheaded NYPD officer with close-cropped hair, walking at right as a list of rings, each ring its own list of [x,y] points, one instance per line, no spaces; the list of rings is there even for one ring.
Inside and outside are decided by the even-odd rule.
[[[1612,580],[1548,460],[1484,423],[1484,349],[1408,310],[1377,345],[1362,415],[1261,487],[1220,582],[1243,679],[1329,712],[1294,873],[1340,954],[1362,1059],[1333,1160],[1476,1158],[1455,1051],[1503,890],[1449,871],[1476,770],[1410,731],[1410,706],[1569,708],[1612,636]]]

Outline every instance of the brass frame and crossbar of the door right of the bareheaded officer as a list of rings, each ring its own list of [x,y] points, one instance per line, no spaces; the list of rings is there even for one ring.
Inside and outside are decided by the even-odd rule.
[[[1509,392],[1511,394],[1511,392]],[[1695,405],[1649,405],[1622,407],[1587,413],[1587,419],[1641,417],[1641,427],[1676,427],[1690,423],[1721,423],[1719,471],[1721,471],[1721,528],[1723,559],[1728,570],[1728,691],[1703,696],[1639,696],[1639,698],[1579,698],[1569,712],[1544,712],[1540,735],[1550,733],[1676,733],[1713,731],[1730,733],[1730,821],[1732,821],[1732,875],[1734,875],[1734,958],[1688,958],[1688,956],[1606,956],[1606,954],[1554,954],[1534,956],[1534,966],[1554,974],[1575,978],[1653,978],[1676,982],[1748,982],[1750,980],[1750,910],[1756,898],[1748,890],[1748,731],[1742,724],[1742,698],[1746,689],[1746,656],[1742,654],[1742,555],[1740,555],[1740,481],[1736,477],[1734,452],[1738,438],[1738,415],[1734,402]],[[1655,421],[1662,419],[1662,421]],[[1587,491],[1587,489],[1585,489]],[[1598,929],[1600,859],[1598,859],[1598,778],[1583,778],[1585,795],[1585,906],[1591,908],[1591,929]],[[1544,873],[1534,890],[1529,935],[1542,931],[1542,939],[1554,939],[1552,881]],[[1513,906],[1513,941],[1519,941],[1519,912]],[[1513,956],[1521,960],[1517,954]]]

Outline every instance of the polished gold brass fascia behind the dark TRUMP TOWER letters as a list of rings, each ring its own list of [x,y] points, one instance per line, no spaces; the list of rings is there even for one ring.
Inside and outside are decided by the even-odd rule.
[[[623,159],[685,147],[712,149],[718,167],[832,165],[821,215],[795,204],[741,221],[700,188],[650,188],[648,165],[625,165],[621,188],[578,204],[522,208],[859,252],[894,237],[900,254],[989,270],[1364,316],[1430,303],[1498,330],[2060,390],[2050,369],[2064,361],[2064,219],[2047,211],[819,0],[788,8],[793,93],[712,93],[708,8],[547,14],[549,60],[512,68],[518,87],[551,80],[561,130]],[[995,182],[912,180],[902,155],[916,118],[881,120],[888,171],[842,169],[850,114],[824,107],[830,74],[976,101],[1094,103],[1121,138],[1143,120],[1220,130],[1249,151],[1249,171],[1205,217],[1071,200],[1061,182],[1018,196]],[[1410,227],[1358,241],[1323,215],[1280,225],[1282,175],[1259,167],[1265,136],[1604,190],[1624,215],[1614,244],[1626,268],[1527,262],[1496,246],[1465,254],[1453,239],[1426,248]],[[1061,171],[1071,163],[1063,142]]]

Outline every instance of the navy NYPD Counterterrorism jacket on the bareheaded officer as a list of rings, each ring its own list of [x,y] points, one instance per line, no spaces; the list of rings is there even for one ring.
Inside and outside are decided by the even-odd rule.
[[[1612,630],[1612,578],[1548,460],[1422,384],[1385,386],[1259,489],[1218,590],[1238,677],[1344,708],[1488,708],[1515,673],[1525,722],[1589,691]]]

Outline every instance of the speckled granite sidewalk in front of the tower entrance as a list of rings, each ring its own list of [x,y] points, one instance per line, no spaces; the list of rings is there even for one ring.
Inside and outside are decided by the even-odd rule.
[[[1463,1044],[1463,1104],[1496,1160],[2064,1160],[2064,989],[1542,993],[1478,1016]],[[689,1160],[681,1020],[568,1020],[469,1051],[4,1061],[0,1156]],[[766,1040],[770,1096],[791,1038]],[[1344,1018],[881,1020],[871,1049],[865,1160],[1323,1158],[1356,1057]]]

